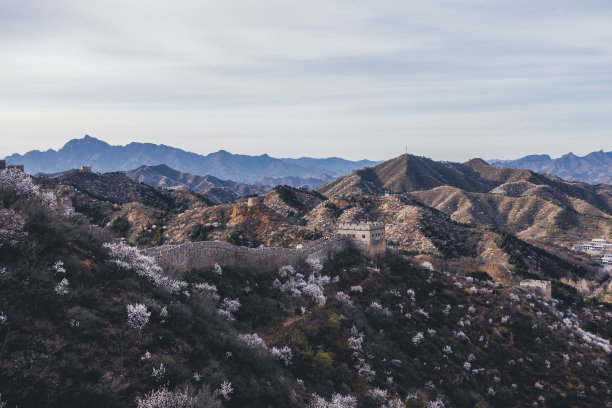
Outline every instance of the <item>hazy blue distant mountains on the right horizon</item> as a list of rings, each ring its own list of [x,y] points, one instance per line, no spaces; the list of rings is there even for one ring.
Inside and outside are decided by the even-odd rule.
[[[568,153],[556,159],[547,154],[534,154],[516,160],[489,160],[489,164],[555,174],[569,181],[612,184],[612,152],[603,150],[582,157]]]

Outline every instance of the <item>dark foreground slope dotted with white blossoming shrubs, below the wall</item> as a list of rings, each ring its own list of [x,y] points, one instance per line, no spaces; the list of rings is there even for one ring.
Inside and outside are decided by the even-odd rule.
[[[563,287],[546,301],[396,251],[367,259],[350,249],[323,265],[169,276],[124,244],[104,245],[86,221],[63,215],[27,179],[11,180],[0,183],[11,197],[0,209],[0,393],[7,406],[612,403],[612,309],[567,297]],[[275,212],[324,205],[298,190],[268,194],[264,202]],[[378,199],[398,197],[353,204],[393,207]],[[429,214],[427,225],[455,225],[436,210],[401,204]],[[533,247],[502,238],[513,259],[537,258]]]

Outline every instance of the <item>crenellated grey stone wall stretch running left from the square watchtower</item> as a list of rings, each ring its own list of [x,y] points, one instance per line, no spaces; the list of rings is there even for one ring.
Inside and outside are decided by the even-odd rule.
[[[306,258],[316,258],[324,262],[332,255],[347,248],[348,245],[348,241],[343,237],[332,235],[295,249],[247,248],[226,242],[200,241],[147,248],[141,252],[155,258],[164,269],[173,271],[212,268],[216,263],[222,267],[278,269],[283,265],[296,265],[305,261]]]

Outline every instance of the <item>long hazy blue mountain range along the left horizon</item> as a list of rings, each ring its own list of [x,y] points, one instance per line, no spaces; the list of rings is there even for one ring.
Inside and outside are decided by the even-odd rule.
[[[80,166],[94,171],[128,171],[142,165],[165,164],[180,172],[211,175],[242,183],[262,183],[262,179],[291,177],[294,185],[321,185],[354,169],[375,165],[370,160],[350,161],[337,157],[326,159],[278,159],[267,154],[248,156],[220,150],[199,155],[166,145],[130,143],[111,146],[91,136],[73,139],[59,150],[33,150],[24,155],[6,157],[8,164],[23,164],[31,174],[57,173]],[[313,185],[316,184],[316,185]]]

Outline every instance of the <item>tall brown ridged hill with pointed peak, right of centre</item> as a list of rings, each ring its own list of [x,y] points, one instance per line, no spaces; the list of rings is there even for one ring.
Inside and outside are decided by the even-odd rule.
[[[440,163],[402,155],[354,171],[317,191],[336,198],[403,194],[455,221],[493,226],[526,239],[554,239],[569,245],[588,236],[612,236],[609,186],[500,169],[480,159]]]

